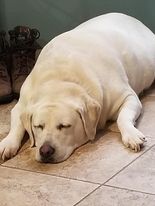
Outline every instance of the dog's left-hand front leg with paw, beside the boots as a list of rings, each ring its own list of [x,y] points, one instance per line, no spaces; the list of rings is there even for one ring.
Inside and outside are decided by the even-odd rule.
[[[21,104],[18,102],[11,111],[11,129],[9,134],[0,142],[0,159],[13,157],[23,139],[25,129],[20,120],[22,112]]]

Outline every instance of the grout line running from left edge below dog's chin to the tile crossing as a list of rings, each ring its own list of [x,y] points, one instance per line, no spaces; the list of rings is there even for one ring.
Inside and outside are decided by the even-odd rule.
[[[56,175],[56,174],[47,174],[44,172],[39,172],[39,171],[33,171],[33,170],[27,170],[27,169],[23,169],[23,168],[17,168],[17,167],[12,167],[12,166],[7,166],[7,165],[0,165],[4,168],[9,168],[9,169],[14,169],[14,170],[18,170],[18,171],[25,171],[25,172],[30,172],[30,173],[37,173],[37,174],[41,174],[41,175],[48,175],[50,177],[57,177],[57,178],[63,178],[63,179],[67,179],[67,180],[74,180],[74,181],[78,181],[78,182],[83,182],[83,183],[89,183],[89,184],[94,184],[94,185],[98,185],[101,186],[100,183],[96,183],[96,182],[91,182],[91,181],[87,181],[87,180],[80,180],[80,179],[76,179],[76,178],[72,178],[72,177],[66,177],[63,175]]]

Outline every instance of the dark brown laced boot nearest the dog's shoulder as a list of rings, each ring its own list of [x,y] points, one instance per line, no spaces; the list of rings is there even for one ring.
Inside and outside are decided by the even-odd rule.
[[[36,62],[36,51],[41,47],[36,42],[40,33],[36,29],[17,26],[9,31],[12,53],[12,89],[18,99],[21,86]]]

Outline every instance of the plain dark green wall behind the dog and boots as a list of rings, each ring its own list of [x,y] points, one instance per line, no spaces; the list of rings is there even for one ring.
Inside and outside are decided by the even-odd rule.
[[[41,31],[42,42],[107,12],[123,12],[155,32],[155,0],[0,0],[0,27],[27,25]]]

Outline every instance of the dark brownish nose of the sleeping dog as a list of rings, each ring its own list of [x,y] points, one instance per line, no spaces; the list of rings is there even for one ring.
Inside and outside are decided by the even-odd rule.
[[[44,160],[48,160],[52,157],[52,155],[55,152],[55,149],[53,147],[51,147],[49,144],[43,144],[40,149],[40,156],[44,159]]]

